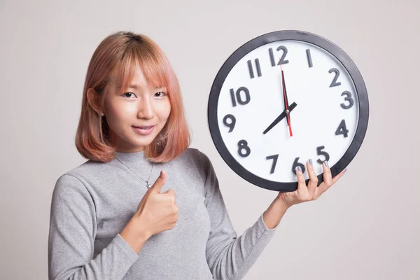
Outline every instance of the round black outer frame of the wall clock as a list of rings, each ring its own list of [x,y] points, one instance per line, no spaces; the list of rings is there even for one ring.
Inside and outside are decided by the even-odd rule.
[[[343,64],[346,70],[349,72],[353,83],[356,87],[356,92],[358,93],[358,105],[359,105],[359,118],[358,125],[356,129],[356,134],[351,142],[346,153],[340,158],[340,160],[331,168],[332,177],[342,172],[342,170],[349,165],[351,160],[356,156],[360,146],[363,143],[365,138],[367,123],[369,119],[369,100],[367,98],[367,90],[365,82],[358,71],[356,64],[351,60],[349,55],[339,48],[335,43],[328,41],[328,39],[318,36],[316,34],[309,33],[307,31],[297,31],[297,30],[282,30],[274,31],[271,33],[263,34],[256,38],[253,38],[251,41],[241,45],[235,52],[230,55],[230,57],[225,61],[221,69],[218,71],[213,85],[211,86],[211,91],[209,94],[209,105],[207,109],[207,117],[209,121],[209,130],[211,137],[213,139],[214,145],[216,146],[218,153],[222,156],[223,160],[228,164],[228,166],[243,179],[249,183],[253,183],[255,186],[260,188],[265,188],[267,190],[276,190],[281,192],[289,192],[297,189],[297,182],[277,182],[269,181],[267,179],[256,176],[251,172],[248,172],[247,169],[242,167],[235,158],[232,157],[228,148],[226,148],[225,143],[221,137],[221,132],[218,126],[217,119],[217,109],[218,109],[218,97],[221,92],[221,87],[225,82],[225,78],[228,76],[232,68],[239,62],[239,60],[248,54],[255,48],[258,48],[267,43],[272,43],[275,41],[285,41],[285,40],[295,40],[295,41],[304,41],[307,43],[312,43],[317,45],[320,48],[330,52],[331,55],[336,57],[339,62]],[[308,183],[309,179],[306,180]],[[323,181],[323,173],[318,175],[318,186]]]

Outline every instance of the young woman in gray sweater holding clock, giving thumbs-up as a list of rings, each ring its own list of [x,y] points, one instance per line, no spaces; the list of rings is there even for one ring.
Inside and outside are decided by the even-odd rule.
[[[297,190],[279,193],[237,237],[209,158],[189,145],[164,52],[141,34],[105,38],[87,69],[76,133],[88,160],[52,194],[49,279],[241,279],[286,210],[342,176],[323,165],[317,188],[309,160],[308,186],[298,170]]]

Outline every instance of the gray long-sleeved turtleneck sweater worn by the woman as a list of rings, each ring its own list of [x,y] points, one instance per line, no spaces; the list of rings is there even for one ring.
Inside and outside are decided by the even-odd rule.
[[[117,159],[88,160],[60,176],[52,193],[49,279],[242,279],[274,235],[261,214],[237,237],[211,162],[199,150],[154,164],[152,173],[144,151],[117,155],[141,178],[151,174],[151,183],[165,170],[162,192],[174,189],[179,206],[175,228],[132,250],[119,232],[146,184]]]

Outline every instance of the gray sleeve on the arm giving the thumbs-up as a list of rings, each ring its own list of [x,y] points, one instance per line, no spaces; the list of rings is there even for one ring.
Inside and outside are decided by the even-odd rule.
[[[75,176],[59,177],[52,193],[49,279],[123,279],[139,257],[119,234],[94,259],[94,200]]]

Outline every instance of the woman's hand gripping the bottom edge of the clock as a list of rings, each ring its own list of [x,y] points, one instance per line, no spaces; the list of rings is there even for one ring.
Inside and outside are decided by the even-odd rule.
[[[320,197],[323,193],[325,193],[330,186],[334,185],[338,179],[343,176],[344,172],[347,169],[344,169],[341,173],[337,174],[334,178],[331,178],[331,170],[330,167],[325,166],[325,163],[322,165],[323,167],[323,182],[318,186],[318,178],[316,177],[316,173],[314,171],[313,165],[307,161],[307,171],[309,174],[309,182],[308,186],[306,186],[304,175],[298,169],[296,169],[296,176],[297,176],[297,190],[293,192],[286,192],[286,193],[279,193],[276,199],[281,200],[286,207],[291,207],[294,204],[298,204],[301,202],[308,202],[311,200],[316,200]]]

